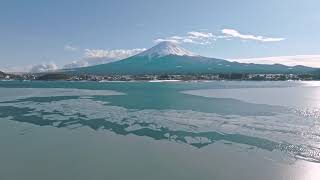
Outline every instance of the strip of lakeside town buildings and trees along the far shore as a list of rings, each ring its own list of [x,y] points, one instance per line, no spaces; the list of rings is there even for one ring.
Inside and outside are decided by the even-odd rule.
[[[0,73],[0,80],[65,80],[65,81],[211,81],[211,80],[244,80],[244,81],[310,81],[320,80],[316,74],[162,74],[162,75],[68,75],[65,73],[6,74]]]

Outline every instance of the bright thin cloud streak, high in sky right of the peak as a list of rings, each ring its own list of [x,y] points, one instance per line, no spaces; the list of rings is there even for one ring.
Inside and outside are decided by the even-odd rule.
[[[223,29],[221,32],[229,38],[239,38],[244,40],[254,40],[260,42],[278,42],[283,41],[285,38],[273,38],[273,37],[264,37],[264,36],[256,36],[251,34],[241,34],[239,31],[235,29]]]

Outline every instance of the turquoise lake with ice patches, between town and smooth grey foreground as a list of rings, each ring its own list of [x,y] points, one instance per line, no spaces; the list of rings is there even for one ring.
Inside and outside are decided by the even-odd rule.
[[[316,82],[11,81],[0,82],[0,120],[319,163],[317,95]]]

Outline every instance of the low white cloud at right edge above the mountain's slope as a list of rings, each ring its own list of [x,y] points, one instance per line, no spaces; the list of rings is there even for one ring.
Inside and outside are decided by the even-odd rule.
[[[261,58],[241,58],[233,59],[233,61],[241,63],[256,63],[256,64],[284,64],[287,66],[309,66],[320,68],[320,54],[315,55],[295,55],[295,56],[274,56]]]

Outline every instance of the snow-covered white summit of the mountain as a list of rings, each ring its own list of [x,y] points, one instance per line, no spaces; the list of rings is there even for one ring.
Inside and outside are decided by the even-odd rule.
[[[177,56],[195,56],[195,54],[179,47],[178,44],[174,42],[164,41],[156,46],[138,54],[138,56],[148,56],[148,57],[163,57],[167,55],[177,55]]]

